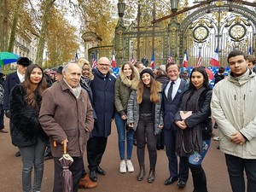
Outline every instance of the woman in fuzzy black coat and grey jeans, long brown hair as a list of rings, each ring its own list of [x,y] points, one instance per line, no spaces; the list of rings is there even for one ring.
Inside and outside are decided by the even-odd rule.
[[[38,121],[38,115],[42,94],[47,87],[43,69],[32,64],[27,67],[25,81],[15,85],[10,94],[10,120],[13,124],[11,138],[12,143],[20,149],[22,157],[23,192],[41,190],[44,151],[49,138]]]

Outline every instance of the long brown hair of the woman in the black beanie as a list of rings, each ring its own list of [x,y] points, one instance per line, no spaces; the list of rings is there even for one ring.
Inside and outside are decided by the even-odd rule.
[[[149,84],[149,88],[150,88],[150,101],[157,103],[160,102],[159,96],[158,96],[158,92],[160,90],[160,83],[156,80],[154,80],[154,78],[152,78],[152,76],[150,76],[150,84]],[[137,86],[137,103],[141,104],[143,102],[143,92],[145,89],[145,84],[143,83],[143,79],[140,79],[138,86]]]

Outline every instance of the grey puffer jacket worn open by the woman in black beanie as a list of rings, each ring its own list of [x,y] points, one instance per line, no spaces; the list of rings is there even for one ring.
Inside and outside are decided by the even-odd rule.
[[[162,104],[162,92],[161,92],[161,84],[158,85],[158,96],[160,99],[160,102],[154,103],[154,130],[157,131],[159,129],[159,125],[164,125],[163,121],[163,110],[161,108]],[[131,91],[131,96],[128,100],[128,106],[127,106],[127,124],[133,123],[133,129],[136,131],[137,124],[139,121],[139,105],[137,104],[137,90]]]

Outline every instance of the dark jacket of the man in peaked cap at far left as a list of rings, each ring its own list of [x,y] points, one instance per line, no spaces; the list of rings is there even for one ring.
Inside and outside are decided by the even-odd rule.
[[[3,95],[3,110],[9,109],[9,95],[15,84],[20,84],[20,79],[17,72],[10,73],[3,82],[4,95]]]

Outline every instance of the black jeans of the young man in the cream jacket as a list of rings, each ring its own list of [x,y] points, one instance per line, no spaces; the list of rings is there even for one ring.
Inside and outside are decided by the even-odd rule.
[[[245,192],[243,172],[247,174],[247,192],[256,191],[256,160],[241,159],[225,154],[226,165],[230,174],[230,183],[233,192]]]

